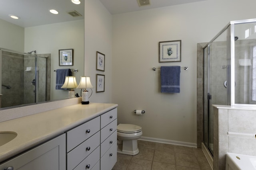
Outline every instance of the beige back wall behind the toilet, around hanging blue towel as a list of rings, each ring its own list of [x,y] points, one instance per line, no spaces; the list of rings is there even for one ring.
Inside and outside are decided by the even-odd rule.
[[[255,18],[254,0],[207,0],[114,15],[112,102],[118,123],[142,127],[144,139],[196,146],[196,47],[229,21]],[[231,8],[232,7],[232,8]],[[158,63],[158,42],[182,40],[182,62]],[[160,72],[152,67],[188,66],[180,94],[160,93]],[[134,109],[145,109],[142,116]]]

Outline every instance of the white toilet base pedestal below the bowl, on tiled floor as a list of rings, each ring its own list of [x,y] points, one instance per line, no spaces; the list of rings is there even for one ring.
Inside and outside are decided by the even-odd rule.
[[[122,141],[117,145],[117,152],[120,154],[136,155],[140,151],[138,149],[137,140]]]

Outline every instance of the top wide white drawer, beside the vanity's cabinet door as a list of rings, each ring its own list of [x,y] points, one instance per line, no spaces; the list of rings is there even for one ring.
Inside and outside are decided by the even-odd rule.
[[[96,117],[67,132],[67,152],[100,130],[100,117]]]

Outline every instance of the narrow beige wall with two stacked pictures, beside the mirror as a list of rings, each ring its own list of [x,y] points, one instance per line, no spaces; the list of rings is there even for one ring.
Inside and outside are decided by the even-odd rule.
[[[112,16],[99,0],[85,0],[84,75],[94,86],[90,102],[110,103],[112,95]],[[96,51],[105,55],[105,71],[96,70]],[[105,75],[105,92],[96,93],[96,74]]]

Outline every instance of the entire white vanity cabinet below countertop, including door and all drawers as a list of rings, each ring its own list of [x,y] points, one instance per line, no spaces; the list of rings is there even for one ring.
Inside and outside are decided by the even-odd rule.
[[[0,164],[0,170],[111,170],[117,159],[116,128],[117,108],[100,112],[13,156]]]

